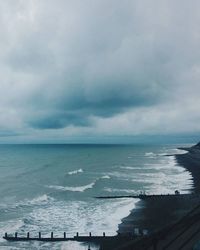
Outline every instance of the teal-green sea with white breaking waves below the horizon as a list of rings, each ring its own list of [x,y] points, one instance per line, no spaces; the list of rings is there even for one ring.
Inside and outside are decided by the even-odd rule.
[[[184,153],[178,146],[183,145],[0,145],[0,249],[88,249],[76,242],[2,237],[39,231],[115,235],[138,200],[95,196],[190,192],[191,174],[166,156]]]

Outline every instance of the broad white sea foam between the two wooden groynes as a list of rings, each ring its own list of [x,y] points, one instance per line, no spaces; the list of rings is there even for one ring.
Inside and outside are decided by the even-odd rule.
[[[50,229],[56,227],[56,237],[63,235],[63,231],[69,237],[76,232],[87,235],[89,230],[93,235],[102,235],[103,232],[115,235],[121,219],[130,213],[137,201],[126,198],[104,202],[93,199],[90,204],[87,201],[56,201],[27,215],[31,224],[26,223],[23,230],[27,232],[31,229],[34,235],[42,228],[46,236]]]

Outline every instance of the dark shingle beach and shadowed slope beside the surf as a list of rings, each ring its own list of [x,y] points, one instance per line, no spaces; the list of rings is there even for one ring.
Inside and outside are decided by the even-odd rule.
[[[122,245],[119,241],[117,245],[103,243],[100,249],[193,249],[194,242],[200,240],[200,143],[180,149],[186,153],[175,157],[192,175],[191,193],[146,195],[118,227],[119,235],[139,235]]]

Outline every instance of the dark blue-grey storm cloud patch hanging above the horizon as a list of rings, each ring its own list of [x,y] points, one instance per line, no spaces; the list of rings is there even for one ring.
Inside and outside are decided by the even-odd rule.
[[[31,113],[29,124],[38,128],[62,128],[70,124],[89,126],[90,116],[112,117],[133,106],[152,105],[159,99],[148,88],[138,94],[137,87],[126,85],[117,81],[103,87],[100,84],[86,94],[79,87],[67,86],[62,88],[62,93],[58,91],[57,96],[50,93],[52,90],[46,90],[34,105],[34,112],[41,107],[43,111],[35,116]]]

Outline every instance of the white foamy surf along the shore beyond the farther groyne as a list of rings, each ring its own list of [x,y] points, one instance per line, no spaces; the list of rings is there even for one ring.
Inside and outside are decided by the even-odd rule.
[[[120,178],[123,181],[132,181],[137,186],[146,189],[151,194],[167,194],[174,193],[174,190],[180,190],[181,193],[188,193],[192,188],[193,181],[191,174],[176,162],[175,156],[166,156],[168,152],[153,154],[149,152],[149,156],[157,155],[156,163],[146,163],[141,167],[121,166],[120,169],[134,171],[134,175],[130,171],[128,173],[120,173],[115,171],[109,173],[113,177]],[[139,171],[137,171],[139,170]],[[129,189],[106,189],[108,192],[131,193]],[[136,193],[135,190],[134,193]]]

